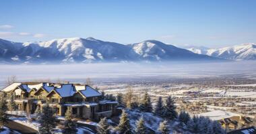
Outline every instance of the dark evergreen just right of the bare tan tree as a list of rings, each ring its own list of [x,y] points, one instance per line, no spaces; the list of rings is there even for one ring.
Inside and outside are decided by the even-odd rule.
[[[145,92],[139,105],[139,109],[143,112],[152,112],[152,103],[148,92]]]

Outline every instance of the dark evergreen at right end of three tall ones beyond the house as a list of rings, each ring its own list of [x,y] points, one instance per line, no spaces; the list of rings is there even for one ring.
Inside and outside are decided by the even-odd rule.
[[[164,105],[163,117],[166,119],[175,119],[177,117],[177,112],[175,111],[176,106],[174,105],[174,100],[171,96],[166,99],[166,104]]]

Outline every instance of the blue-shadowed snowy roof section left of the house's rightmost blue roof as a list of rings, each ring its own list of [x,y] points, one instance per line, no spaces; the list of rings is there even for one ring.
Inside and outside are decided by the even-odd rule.
[[[73,96],[76,90],[72,84],[63,84],[60,88],[55,88],[61,97]]]

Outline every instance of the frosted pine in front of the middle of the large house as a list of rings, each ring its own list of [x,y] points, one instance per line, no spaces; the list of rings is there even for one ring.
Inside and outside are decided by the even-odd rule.
[[[71,107],[67,108],[67,111],[65,113],[65,122],[64,122],[64,129],[63,133],[64,134],[75,134],[77,133],[77,125],[75,121],[72,120],[73,115],[72,115],[72,109]]]

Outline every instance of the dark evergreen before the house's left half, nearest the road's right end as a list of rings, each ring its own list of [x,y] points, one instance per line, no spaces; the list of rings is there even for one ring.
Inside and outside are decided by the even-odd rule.
[[[54,109],[49,107],[48,103],[42,107],[42,114],[38,121],[40,123],[39,133],[50,134],[53,132],[53,129],[56,127],[56,117],[54,114]]]

